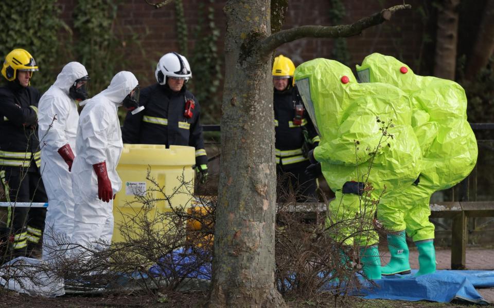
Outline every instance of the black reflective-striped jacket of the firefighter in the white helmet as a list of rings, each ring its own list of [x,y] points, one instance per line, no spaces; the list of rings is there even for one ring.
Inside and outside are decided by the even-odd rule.
[[[190,119],[184,117],[187,99],[195,102]],[[144,111],[135,115],[128,112],[123,123],[124,143],[192,146],[196,148],[196,165],[207,164],[199,122],[201,107],[185,85],[180,92],[173,92],[168,85],[146,87],[140,92],[139,105],[145,107]]]

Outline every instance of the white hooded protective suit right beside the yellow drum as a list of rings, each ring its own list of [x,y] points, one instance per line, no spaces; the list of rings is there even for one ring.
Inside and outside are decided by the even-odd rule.
[[[106,162],[113,194],[121,188],[116,166],[122,152],[122,135],[117,108],[136,86],[131,72],[117,73],[110,86],[86,101],[77,127],[77,157],[72,165],[75,198],[72,243],[87,248],[103,249],[95,241],[110,243],[113,235],[113,202],[98,199],[98,179],[93,165]],[[82,253],[75,248],[69,256]]]

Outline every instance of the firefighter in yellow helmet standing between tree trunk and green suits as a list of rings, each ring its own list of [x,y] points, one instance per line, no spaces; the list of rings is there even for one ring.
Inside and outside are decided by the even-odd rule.
[[[315,201],[315,179],[321,169],[320,165],[310,165],[307,153],[319,144],[319,136],[294,86],[294,71],[295,65],[288,57],[275,57],[272,74],[277,195],[283,200],[285,196],[281,195],[291,185],[298,202]]]

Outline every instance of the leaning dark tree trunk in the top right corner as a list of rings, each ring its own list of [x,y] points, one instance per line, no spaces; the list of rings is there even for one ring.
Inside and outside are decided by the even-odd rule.
[[[479,71],[486,67],[494,53],[494,0],[485,5],[482,23],[477,34],[475,47],[468,60],[465,79],[473,80]]]

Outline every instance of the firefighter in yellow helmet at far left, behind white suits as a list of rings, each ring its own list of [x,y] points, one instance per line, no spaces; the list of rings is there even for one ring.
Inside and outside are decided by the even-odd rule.
[[[0,87],[0,175],[7,200],[12,203],[47,202],[41,180],[38,139],[40,93],[30,86],[38,66],[24,49],[14,49],[5,57]],[[41,253],[41,237],[46,208],[9,207],[12,256]],[[34,253],[33,253],[34,252]]]

